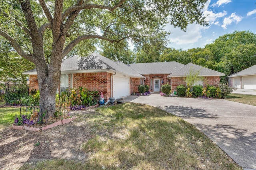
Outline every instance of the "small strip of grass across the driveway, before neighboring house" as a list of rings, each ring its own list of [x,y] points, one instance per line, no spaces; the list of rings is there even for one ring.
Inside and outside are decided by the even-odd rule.
[[[238,102],[243,104],[249,104],[252,106],[256,106],[256,95],[249,95],[249,94],[229,94],[226,96],[226,100],[232,102]]]

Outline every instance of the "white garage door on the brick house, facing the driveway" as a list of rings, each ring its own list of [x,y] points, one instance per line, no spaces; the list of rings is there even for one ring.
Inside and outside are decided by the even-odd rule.
[[[121,98],[130,94],[130,78],[113,76],[114,98]]]

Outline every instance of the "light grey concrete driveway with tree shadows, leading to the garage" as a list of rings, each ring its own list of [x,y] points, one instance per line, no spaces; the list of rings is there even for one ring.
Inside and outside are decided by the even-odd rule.
[[[135,98],[135,99],[134,99]],[[243,168],[256,169],[256,106],[221,99],[127,96],[195,125]]]

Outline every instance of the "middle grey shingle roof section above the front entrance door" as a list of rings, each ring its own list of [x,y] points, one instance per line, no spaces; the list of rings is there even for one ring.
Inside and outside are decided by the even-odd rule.
[[[146,74],[171,74],[176,70],[185,66],[184,64],[176,61],[159,62],[159,63],[136,63],[128,64],[136,72]]]

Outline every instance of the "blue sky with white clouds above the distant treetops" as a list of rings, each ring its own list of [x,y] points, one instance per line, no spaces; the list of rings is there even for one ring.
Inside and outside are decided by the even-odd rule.
[[[208,0],[203,9],[209,26],[188,25],[186,32],[172,25],[166,25],[170,31],[168,47],[191,49],[204,47],[219,36],[234,31],[252,31],[256,33],[256,0]]]

